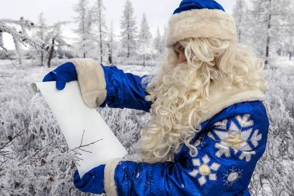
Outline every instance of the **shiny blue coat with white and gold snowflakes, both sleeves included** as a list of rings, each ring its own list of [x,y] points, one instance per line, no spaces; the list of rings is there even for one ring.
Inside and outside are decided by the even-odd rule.
[[[100,107],[149,111],[146,86],[140,77],[116,66],[102,66],[107,97]],[[201,123],[191,144],[183,145],[174,162],[137,163],[110,160],[105,167],[104,189],[110,196],[250,196],[248,185],[263,155],[269,129],[266,108],[255,95],[234,100]],[[242,94],[243,95],[243,94]],[[248,101],[245,101],[248,99]],[[261,98],[260,98],[261,99]]]

